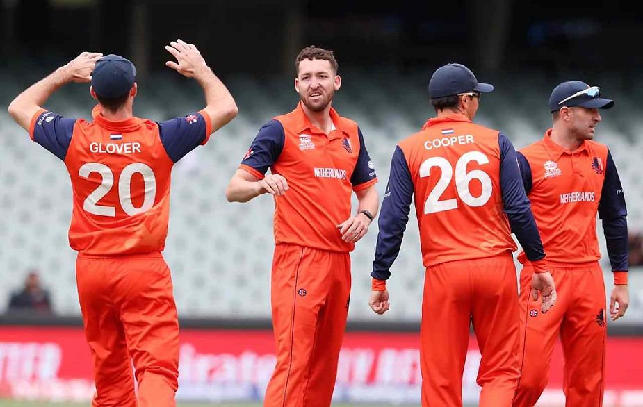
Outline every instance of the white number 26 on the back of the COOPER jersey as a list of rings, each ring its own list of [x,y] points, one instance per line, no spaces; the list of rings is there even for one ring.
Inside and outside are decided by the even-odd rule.
[[[455,188],[464,204],[482,206],[487,204],[491,197],[491,178],[482,169],[473,169],[470,172],[466,172],[466,165],[471,161],[475,161],[478,164],[487,164],[489,163],[489,158],[480,151],[469,151],[469,153],[464,153],[458,158],[457,163],[455,163]],[[440,167],[442,175],[426,199],[424,204],[425,215],[457,208],[457,199],[455,198],[439,200],[453,177],[451,163],[443,157],[431,157],[420,165],[420,177],[430,176],[432,167]],[[473,179],[477,179],[482,184],[480,197],[473,197],[471,191],[469,191],[469,183]]]

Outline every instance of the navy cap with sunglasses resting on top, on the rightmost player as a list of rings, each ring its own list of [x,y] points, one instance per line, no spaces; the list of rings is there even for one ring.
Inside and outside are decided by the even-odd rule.
[[[551,113],[567,106],[583,108],[610,109],[614,107],[612,99],[605,99],[597,86],[589,86],[583,81],[567,81],[556,86],[549,97]],[[563,101],[562,103],[560,103]]]

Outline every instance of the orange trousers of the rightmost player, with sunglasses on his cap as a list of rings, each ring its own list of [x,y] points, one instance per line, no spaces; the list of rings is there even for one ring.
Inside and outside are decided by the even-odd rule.
[[[558,336],[565,360],[563,390],[567,407],[603,406],[605,375],[605,281],[598,262],[549,262],[558,299],[546,314],[528,295],[533,269],[520,273],[521,377],[513,406],[533,407],[549,380],[551,353]]]

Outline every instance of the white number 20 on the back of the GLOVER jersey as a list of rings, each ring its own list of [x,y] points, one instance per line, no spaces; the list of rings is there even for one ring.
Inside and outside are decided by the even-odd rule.
[[[93,215],[101,216],[116,216],[116,208],[113,206],[97,205],[97,202],[111,190],[114,185],[114,174],[112,170],[101,163],[86,163],[79,169],[79,176],[89,179],[92,172],[97,172],[101,175],[103,180],[100,185],[89,194],[83,203],[83,209]],[[143,176],[143,183],[145,185],[145,195],[143,197],[143,205],[136,208],[131,201],[131,178],[134,174],[141,174]],[[152,168],[143,163],[133,163],[124,167],[118,179],[118,200],[120,206],[127,215],[132,216],[137,213],[145,212],[154,206],[154,199],[156,198],[156,178]]]

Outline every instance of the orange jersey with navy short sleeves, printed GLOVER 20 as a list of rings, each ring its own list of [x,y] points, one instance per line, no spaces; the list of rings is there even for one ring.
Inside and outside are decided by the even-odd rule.
[[[209,116],[111,122],[96,106],[93,117],[88,122],[40,110],[31,122],[31,138],[63,160],[70,174],[70,246],[93,256],[163,251],[172,166],[208,140]]]

